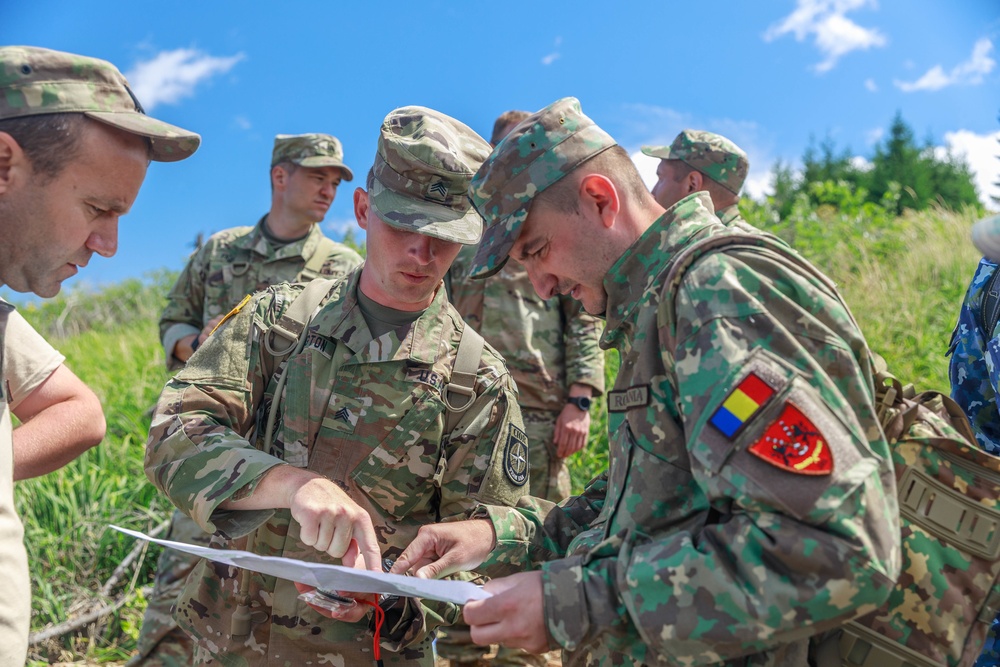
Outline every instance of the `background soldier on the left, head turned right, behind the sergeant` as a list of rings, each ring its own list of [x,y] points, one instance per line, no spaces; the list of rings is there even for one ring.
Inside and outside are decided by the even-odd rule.
[[[342,181],[354,174],[344,164],[340,141],[329,134],[279,134],[271,153],[271,209],[253,227],[213,234],[181,272],[160,317],[167,368],[181,368],[219,323],[247,294],[282,282],[336,278],[361,257],[320,231],[319,223]],[[208,544],[211,537],[175,511],[168,537]],[[198,558],[164,549],[129,667],[183,667],[193,645],[171,616],[171,607]]]

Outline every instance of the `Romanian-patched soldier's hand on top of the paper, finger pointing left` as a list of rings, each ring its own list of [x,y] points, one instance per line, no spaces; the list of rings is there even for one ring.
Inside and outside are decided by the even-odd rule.
[[[478,566],[493,551],[495,542],[493,524],[486,519],[428,524],[420,527],[390,572],[440,579]]]

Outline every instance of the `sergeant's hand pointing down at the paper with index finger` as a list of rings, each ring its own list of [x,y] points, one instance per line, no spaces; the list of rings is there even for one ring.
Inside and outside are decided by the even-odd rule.
[[[299,539],[303,544],[346,559],[351,540],[356,540],[362,567],[382,571],[382,554],[371,517],[343,489],[318,475],[288,488],[291,492],[287,507],[301,526]]]

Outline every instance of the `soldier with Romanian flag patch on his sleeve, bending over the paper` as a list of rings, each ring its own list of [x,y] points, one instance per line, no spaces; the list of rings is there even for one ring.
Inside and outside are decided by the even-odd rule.
[[[557,506],[425,526],[394,571],[538,568],[488,582],[464,618],[476,642],[561,647],[564,665],[806,665],[812,637],[888,597],[891,458],[864,338],[828,281],[736,235],[707,193],[665,212],[573,98],[522,122],[471,193],[487,222],[474,272],[509,254],[541,296],[604,313],[621,354],[610,470]],[[699,246],[668,281],[679,253],[726,236],[742,244]]]

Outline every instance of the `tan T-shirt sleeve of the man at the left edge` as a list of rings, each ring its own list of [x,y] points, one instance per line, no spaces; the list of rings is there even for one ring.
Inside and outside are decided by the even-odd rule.
[[[16,310],[7,319],[4,337],[4,380],[10,409],[31,395],[66,360]]]

